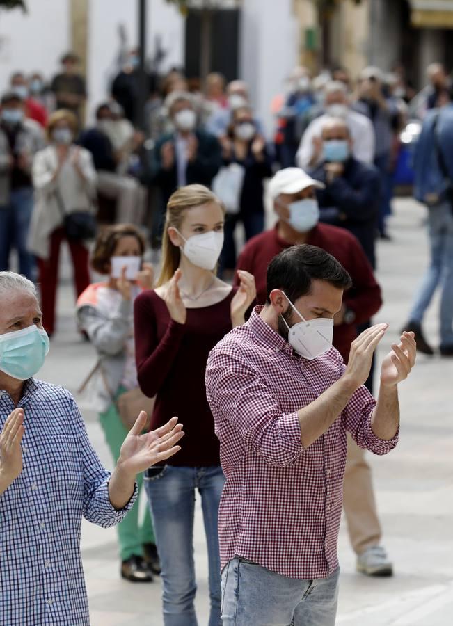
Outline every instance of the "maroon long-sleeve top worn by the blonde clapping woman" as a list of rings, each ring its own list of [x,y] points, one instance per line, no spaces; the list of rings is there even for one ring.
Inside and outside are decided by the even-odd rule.
[[[187,309],[185,324],[170,318],[155,291],[143,291],[134,303],[138,384],[156,396],[150,429],[177,415],[186,433],[181,450],[168,460],[180,467],[219,465],[219,444],[206,399],[209,352],[232,328],[230,305],[237,289],[221,302]]]

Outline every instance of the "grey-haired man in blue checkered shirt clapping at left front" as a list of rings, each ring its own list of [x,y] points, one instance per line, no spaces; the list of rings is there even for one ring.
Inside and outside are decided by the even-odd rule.
[[[89,626],[82,515],[118,524],[136,474],[180,450],[182,426],[142,435],[141,412],[104,470],[71,394],[33,378],[49,351],[33,283],[0,272],[0,303],[0,624]]]

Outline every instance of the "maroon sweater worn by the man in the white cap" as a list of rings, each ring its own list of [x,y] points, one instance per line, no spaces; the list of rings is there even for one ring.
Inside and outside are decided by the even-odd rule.
[[[381,288],[358,239],[344,228],[318,224],[310,232],[307,243],[326,250],[351,275],[353,287],[344,294],[344,304],[353,310],[356,320],[353,324],[341,324],[333,329],[333,345],[347,362],[349,348],[357,337],[356,324],[367,321],[381,308]],[[275,227],[253,237],[242,250],[237,269],[246,270],[255,276],[258,304],[264,305],[267,298],[267,266],[273,257],[289,246],[290,243],[278,236]]]

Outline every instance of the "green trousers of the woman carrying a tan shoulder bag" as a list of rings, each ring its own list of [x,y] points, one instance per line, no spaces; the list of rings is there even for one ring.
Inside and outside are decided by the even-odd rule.
[[[123,387],[120,387],[118,396],[125,391]],[[120,449],[127,435],[127,430],[125,426],[123,426],[118,410],[116,410],[114,404],[111,404],[106,412],[100,413],[99,417],[106,442],[109,444],[113,460],[116,462],[120,456]],[[138,474],[136,481],[138,485],[138,498],[125,519],[116,527],[118,531],[118,543],[120,544],[121,561],[129,559],[133,554],[143,556],[143,544],[155,543],[148,502],[146,504],[146,513],[143,517],[143,522],[141,524],[138,522],[139,501],[142,497],[146,498],[146,494],[143,489],[142,474]]]

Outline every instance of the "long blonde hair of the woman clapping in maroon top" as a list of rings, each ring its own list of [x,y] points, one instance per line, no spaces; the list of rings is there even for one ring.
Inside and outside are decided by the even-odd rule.
[[[157,280],[157,287],[161,287],[161,285],[170,280],[180,265],[180,248],[174,246],[170,241],[168,229],[173,227],[180,230],[182,220],[184,220],[184,214],[187,209],[201,207],[202,204],[209,203],[218,204],[218,206],[221,207],[223,214],[225,214],[225,207],[223,207],[221,200],[219,200],[215,193],[212,193],[212,191],[204,185],[187,185],[185,187],[181,187],[175,191],[175,193],[170,195],[170,200],[168,200],[167,204],[164,234],[162,239],[161,273],[159,275],[159,280]]]

